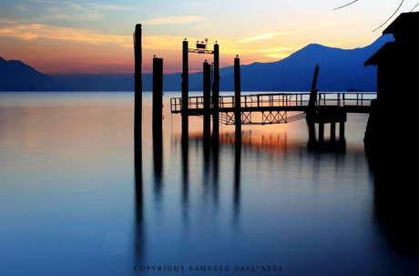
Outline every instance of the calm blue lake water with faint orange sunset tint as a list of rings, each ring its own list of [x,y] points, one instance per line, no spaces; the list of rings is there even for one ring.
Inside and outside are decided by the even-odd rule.
[[[302,120],[243,126],[240,154],[222,126],[207,152],[201,118],[182,150],[166,93],[160,163],[145,93],[136,182],[133,97],[0,93],[0,275],[418,275],[377,218],[367,115],[344,151],[308,149]]]

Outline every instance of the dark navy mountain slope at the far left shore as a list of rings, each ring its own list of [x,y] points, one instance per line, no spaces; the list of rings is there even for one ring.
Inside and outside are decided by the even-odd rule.
[[[0,91],[72,91],[19,60],[0,57]]]

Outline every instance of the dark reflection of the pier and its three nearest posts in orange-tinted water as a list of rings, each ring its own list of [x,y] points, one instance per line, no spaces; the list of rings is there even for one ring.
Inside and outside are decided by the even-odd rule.
[[[348,166],[348,160],[344,158],[346,150],[345,144],[331,142],[324,142],[322,145],[316,144],[315,147],[312,147],[312,144],[308,143],[295,143],[290,142],[287,138],[287,135],[262,135],[261,138],[252,135],[251,131],[243,131],[240,135],[240,139],[236,139],[237,136],[234,132],[227,132],[220,135],[218,143],[211,143],[210,139],[202,136],[202,134],[191,135],[188,137],[188,140],[185,140],[185,136],[173,136],[171,139],[174,141],[172,143],[175,145],[181,145],[181,183],[182,183],[182,202],[184,215],[184,220],[189,221],[189,169],[190,164],[192,167],[196,168],[195,162],[190,162],[189,158],[189,144],[195,145],[194,154],[202,157],[202,199],[204,199],[205,205],[211,204],[214,207],[214,210],[217,209],[220,201],[220,167],[224,169],[232,169],[232,222],[233,224],[237,223],[240,218],[240,205],[242,204],[242,199],[240,196],[240,182],[243,175],[241,169],[242,163],[242,151],[246,154],[246,162],[250,164],[262,164],[268,162],[269,169],[272,169],[272,166],[278,164],[277,158],[281,158],[281,171],[286,172],[288,161],[293,162],[293,166],[297,167],[301,174],[311,174],[311,179],[314,184],[320,185],[322,179],[322,161],[327,162],[328,168],[331,172],[335,172],[335,180],[338,180],[338,173],[342,171],[342,168]],[[232,166],[228,164],[229,159],[233,156]],[[223,159],[223,162],[226,164],[220,164],[220,156]],[[363,160],[363,152],[353,151],[351,154],[350,160],[353,160],[351,168],[360,167],[363,168],[364,163],[358,162],[358,159]],[[312,159],[310,164],[312,166],[311,171],[307,171],[309,167],[307,160]],[[323,162],[324,165],[324,162]],[[253,166],[253,165],[252,165]],[[293,169],[296,168],[292,168]],[[272,169],[274,171],[275,169]],[[278,169],[277,169],[278,170]],[[305,171],[304,171],[305,170]],[[363,169],[361,169],[363,170]],[[194,175],[197,176],[197,169],[193,169]],[[226,179],[222,179],[221,182],[223,186],[227,185]],[[223,187],[225,188],[225,187]],[[211,201],[208,201],[209,196],[211,196]],[[215,212],[216,213],[216,212]]]

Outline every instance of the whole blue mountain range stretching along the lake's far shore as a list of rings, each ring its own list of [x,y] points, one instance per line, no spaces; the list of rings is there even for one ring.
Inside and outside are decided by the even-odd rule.
[[[307,91],[314,66],[319,64],[321,91],[346,91],[350,87],[376,90],[376,68],[363,62],[393,36],[382,36],[372,45],[351,50],[311,44],[272,63],[241,66],[243,91]],[[220,69],[220,90],[234,90],[233,67]],[[180,73],[164,76],[165,91],[180,91]],[[202,73],[189,74],[190,91],[202,91]],[[134,77],[127,75],[68,75],[48,77],[18,60],[0,57],[0,91],[133,91]],[[152,75],[143,74],[143,90],[152,90]]]

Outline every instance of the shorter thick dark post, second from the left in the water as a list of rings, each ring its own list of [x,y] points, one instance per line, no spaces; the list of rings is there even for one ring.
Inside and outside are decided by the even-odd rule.
[[[163,136],[163,59],[153,58],[153,139]]]

